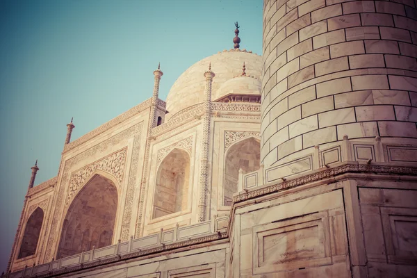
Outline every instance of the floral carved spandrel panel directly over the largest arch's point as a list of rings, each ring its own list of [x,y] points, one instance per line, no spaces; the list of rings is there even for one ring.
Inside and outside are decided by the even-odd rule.
[[[117,151],[109,156],[101,158],[99,161],[91,163],[76,172],[72,172],[70,186],[68,189],[67,201],[65,206],[70,204],[72,198],[79,192],[83,183],[88,180],[95,170],[101,170],[113,174],[119,182],[123,181],[124,165],[126,164],[127,147]]]

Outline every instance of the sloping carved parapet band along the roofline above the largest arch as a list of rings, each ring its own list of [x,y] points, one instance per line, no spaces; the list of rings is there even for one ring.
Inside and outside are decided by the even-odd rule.
[[[70,151],[70,149],[74,149],[75,147],[78,147],[79,145],[83,144],[84,142],[87,142],[91,138],[94,138],[95,136],[98,136],[99,134],[103,133],[104,131],[107,131],[108,129],[111,129],[112,127],[116,126],[117,124],[120,124],[121,122],[128,120],[130,117],[133,117],[134,115],[145,111],[145,109],[149,108],[152,104],[152,97],[143,101],[141,104],[138,104],[137,106],[130,108],[128,111],[124,112],[121,115],[118,115],[113,120],[110,120],[106,122],[105,124],[101,124],[101,126],[97,127],[97,129],[93,129],[89,133],[85,134],[84,136],[81,136],[77,140],[74,140],[73,142],[70,142],[69,144],[65,145],[64,147],[64,153]]]

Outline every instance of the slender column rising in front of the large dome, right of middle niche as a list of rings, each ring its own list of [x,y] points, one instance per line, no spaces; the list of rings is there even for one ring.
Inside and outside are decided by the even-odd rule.
[[[204,90],[204,115],[203,115],[203,137],[202,137],[202,161],[200,168],[200,198],[199,198],[199,222],[206,221],[206,199],[208,191],[208,145],[210,144],[210,122],[211,122],[211,83],[213,83],[214,72],[211,71],[211,63],[208,71],[204,72],[206,77],[206,88]]]

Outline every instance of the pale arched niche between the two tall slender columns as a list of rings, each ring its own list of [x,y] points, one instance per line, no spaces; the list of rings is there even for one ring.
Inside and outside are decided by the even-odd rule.
[[[152,218],[187,208],[189,179],[190,156],[182,149],[173,149],[158,168]]]

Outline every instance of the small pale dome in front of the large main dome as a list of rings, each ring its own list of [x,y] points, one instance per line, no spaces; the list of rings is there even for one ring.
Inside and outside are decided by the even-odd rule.
[[[232,94],[261,95],[262,83],[259,79],[251,76],[237,76],[224,82],[219,90],[212,94],[212,99],[217,100]]]

